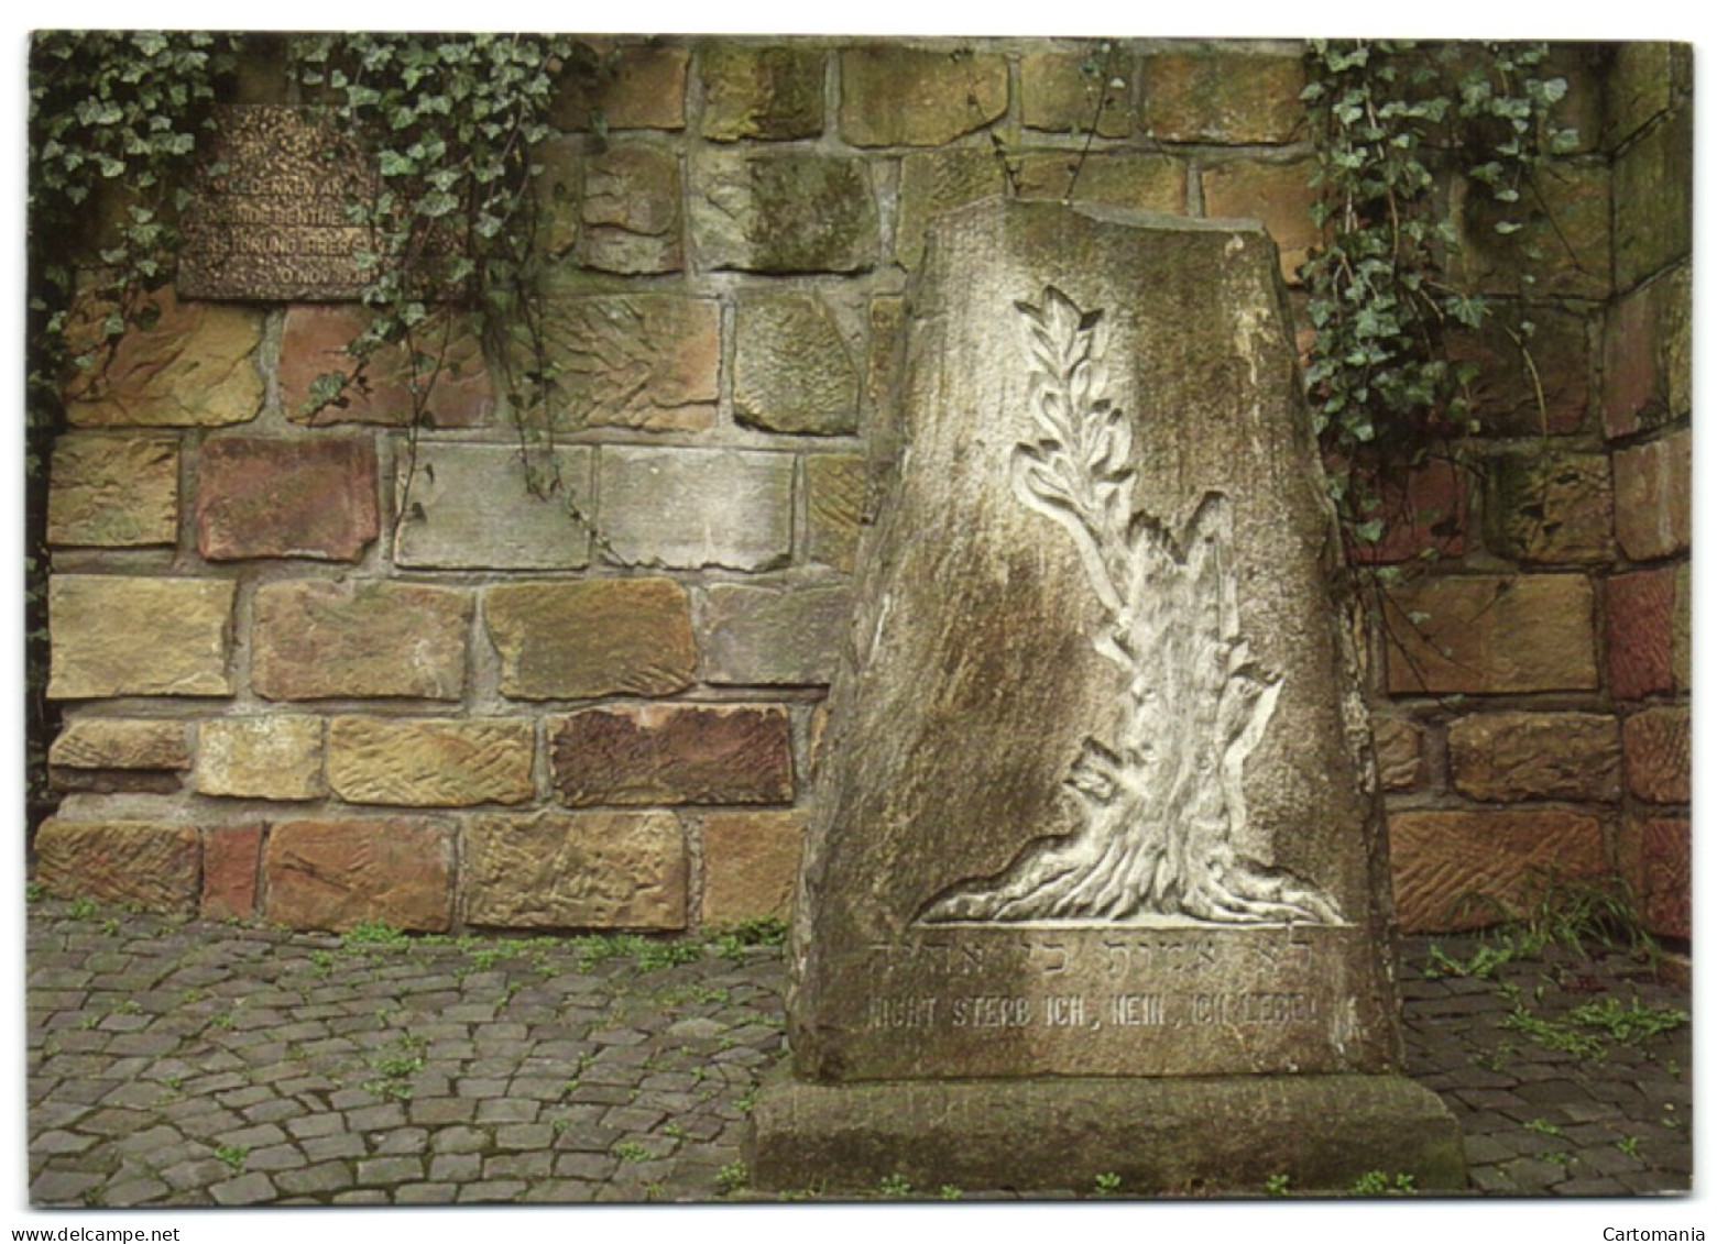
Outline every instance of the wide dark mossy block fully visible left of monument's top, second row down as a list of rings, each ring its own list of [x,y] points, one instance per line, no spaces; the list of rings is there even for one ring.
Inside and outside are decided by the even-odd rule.
[[[869,165],[810,151],[704,158],[692,166],[690,221],[704,268],[860,273],[881,245]]]

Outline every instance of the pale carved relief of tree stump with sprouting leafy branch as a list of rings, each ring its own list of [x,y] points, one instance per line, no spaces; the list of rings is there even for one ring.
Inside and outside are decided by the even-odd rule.
[[[1123,674],[1119,721],[1106,741],[1085,740],[1063,779],[1071,834],[1027,842],[919,920],[1339,923],[1320,889],[1233,846],[1247,827],[1243,769],[1281,676],[1240,638],[1228,498],[1207,492],[1180,532],[1135,511],[1132,424],[1104,396],[1102,312],[1053,285],[1041,307],[1015,305],[1037,439],[1013,450],[1013,492],[1073,537],[1104,611],[1092,642]]]

